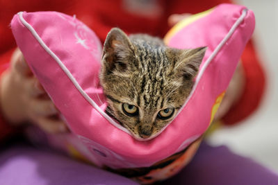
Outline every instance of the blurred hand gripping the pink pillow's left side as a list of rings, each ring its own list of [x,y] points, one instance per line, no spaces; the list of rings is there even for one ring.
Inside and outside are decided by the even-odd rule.
[[[54,103],[33,76],[19,49],[13,53],[10,69],[1,77],[0,103],[3,116],[12,125],[32,123],[51,134],[67,132]]]

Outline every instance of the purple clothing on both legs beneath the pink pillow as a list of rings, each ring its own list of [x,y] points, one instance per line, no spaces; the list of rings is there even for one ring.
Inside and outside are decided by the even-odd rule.
[[[0,184],[136,184],[62,155],[14,146],[0,152]],[[278,175],[224,146],[202,143],[193,161],[181,173],[161,184],[278,184]]]

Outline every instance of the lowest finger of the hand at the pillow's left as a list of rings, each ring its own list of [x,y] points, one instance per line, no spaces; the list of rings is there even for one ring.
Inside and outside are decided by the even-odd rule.
[[[59,134],[68,132],[67,126],[63,121],[41,117],[37,120],[38,126],[49,134]]]

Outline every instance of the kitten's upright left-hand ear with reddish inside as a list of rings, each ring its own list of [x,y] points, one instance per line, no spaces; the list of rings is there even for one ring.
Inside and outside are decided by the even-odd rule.
[[[107,35],[104,42],[102,61],[108,71],[117,68],[124,69],[126,63],[124,59],[133,53],[133,45],[129,37],[120,29],[113,28]]]

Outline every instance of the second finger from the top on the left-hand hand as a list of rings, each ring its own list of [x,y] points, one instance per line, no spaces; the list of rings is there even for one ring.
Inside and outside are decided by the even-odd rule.
[[[25,90],[28,96],[34,98],[41,96],[42,94],[46,94],[44,88],[42,85],[40,85],[40,82],[35,77],[26,79]]]

